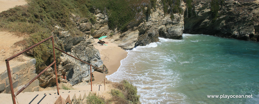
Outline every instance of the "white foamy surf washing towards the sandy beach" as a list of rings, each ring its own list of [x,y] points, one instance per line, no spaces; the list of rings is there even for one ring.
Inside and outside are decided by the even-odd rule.
[[[115,82],[123,79],[132,81],[131,83],[138,89],[138,94],[141,95],[140,101],[143,104],[182,102],[185,99],[184,94],[166,92],[166,89],[177,87],[181,80],[178,73],[165,67],[164,64],[174,61],[175,56],[150,50],[154,47],[157,47],[157,43],[139,46],[128,51],[128,56],[121,60],[118,71],[107,75],[106,78]],[[148,66],[143,67],[142,64]]]

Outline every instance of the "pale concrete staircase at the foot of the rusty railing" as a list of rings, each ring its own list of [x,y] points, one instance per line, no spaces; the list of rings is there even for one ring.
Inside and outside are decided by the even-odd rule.
[[[57,95],[56,90],[40,91],[40,92],[24,92],[16,97],[16,104],[67,104],[73,103],[73,100],[85,99],[91,92],[91,85],[73,86],[73,90],[59,90],[60,95]],[[93,85],[93,93],[103,94],[104,85]],[[11,94],[0,94],[0,102],[4,104],[12,104]],[[18,102],[18,103],[17,103]]]

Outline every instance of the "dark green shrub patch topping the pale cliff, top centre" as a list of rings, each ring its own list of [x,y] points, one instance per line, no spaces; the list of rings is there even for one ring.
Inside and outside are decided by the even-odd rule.
[[[91,4],[107,13],[110,29],[118,28],[124,32],[129,23],[138,21],[136,18],[150,14],[150,8],[155,7],[155,0],[92,0]],[[148,10],[145,11],[144,7],[148,7]]]

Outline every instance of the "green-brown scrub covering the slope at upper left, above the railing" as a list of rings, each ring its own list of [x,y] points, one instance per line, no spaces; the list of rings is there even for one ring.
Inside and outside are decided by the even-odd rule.
[[[96,21],[88,7],[88,0],[29,0],[25,6],[1,12],[0,28],[5,31],[30,34],[29,38],[26,39],[27,47],[52,36],[55,25],[68,30],[74,36],[82,35],[83,33],[71,20],[71,13],[89,18],[90,21]],[[56,42],[55,45],[58,46]],[[51,46],[51,42],[47,41],[33,48],[31,54],[36,59],[37,67],[44,62],[42,59],[44,53],[52,53]],[[60,56],[59,51],[56,51],[56,54],[57,57]]]

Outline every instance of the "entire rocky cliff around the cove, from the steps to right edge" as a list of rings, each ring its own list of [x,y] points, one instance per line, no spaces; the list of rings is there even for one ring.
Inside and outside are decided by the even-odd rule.
[[[84,33],[83,36],[72,37],[68,31],[59,26],[56,26],[58,32],[55,34],[57,34],[58,41],[63,43],[66,52],[97,67],[102,67],[104,64],[100,59],[99,51],[93,47],[93,38],[105,35],[111,40],[110,42],[117,43],[119,47],[125,50],[157,42],[159,41],[158,37],[182,39],[182,33],[208,34],[242,40],[259,40],[259,6],[257,3],[232,0],[217,2],[219,4],[216,5],[218,8],[216,9],[216,14],[218,14],[216,16],[211,2],[205,0],[193,0],[189,4],[187,0],[180,0],[178,6],[182,12],[170,13],[164,12],[165,5],[163,0],[157,0],[155,7],[151,9],[149,9],[148,3],[142,3],[143,8],[138,10],[140,12],[135,16],[135,21],[128,23],[126,26],[127,31],[120,31],[118,28],[110,29],[108,26],[109,14],[95,8],[93,10],[93,14],[96,16],[95,22],[90,22],[87,18],[80,18],[72,14],[73,18],[71,20],[76,23],[77,29]],[[59,75],[62,72],[66,72],[68,80],[89,68],[88,65],[76,61],[65,54],[61,56],[61,62],[58,66]],[[52,73],[45,76],[48,75],[52,75]],[[88,77],[89,71],[80,75],[80,79],[84,81],[88,81]],[[43,77],[43,80],[40,81],[48,83],[45,81],[53,78]],[[75,80],[78,83],[78,78]]]

